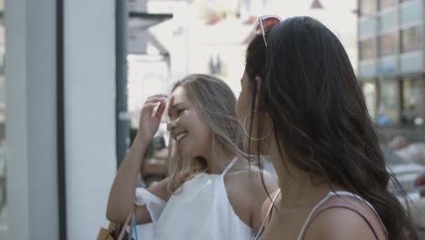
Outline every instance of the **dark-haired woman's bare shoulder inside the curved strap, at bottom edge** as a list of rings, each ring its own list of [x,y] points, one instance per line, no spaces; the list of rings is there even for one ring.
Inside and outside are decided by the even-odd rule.
[[[373,221],[378,219],[373,219]],[[382,230],[383,231],[383,230]],[[306,230],[305,239],[376,239],[371,226],[356,212],[335,207],[317,215]]]

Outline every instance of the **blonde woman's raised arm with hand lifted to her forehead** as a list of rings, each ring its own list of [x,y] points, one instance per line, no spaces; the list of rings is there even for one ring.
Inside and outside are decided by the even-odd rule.
[[[153,95],[148,97],[143,105],[140,114],[139,131],[134,138],[130,151],[120,165],[118,173],[115,175],[114,184],[109,194],[106,217],[111,222],[124,223],[125,217],[133,205],[137,186],[137,175],[143,163],[143,155],[147,145],[158,130],[161,115],[163,115],[165,108],[165,99],[165,95]],[[153,109],[158,104],[158,110],[153,115]],[[149,188],[148,191],[166,201],[168,200],[166,194],[167,183],[167,180],[163,180],[161,184]],[[136,221],[138,223],[151,221],[151,216],[145,205],[136,206],[135,211]]]

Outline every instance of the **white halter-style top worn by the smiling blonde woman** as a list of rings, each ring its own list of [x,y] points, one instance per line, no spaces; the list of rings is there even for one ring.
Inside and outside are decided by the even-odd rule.
[[[154,199],[149,192],[145,197],[143,193],[147,191],[137,189],[135,204],[146,204],[153,218],[153,239],[253,239],[252,228],[234,213],[224,185],[224,175],[236,161],[234,158],[221,175],[194,176],[182,185],[182,191],[170,197],[163,208],[163,200]]]

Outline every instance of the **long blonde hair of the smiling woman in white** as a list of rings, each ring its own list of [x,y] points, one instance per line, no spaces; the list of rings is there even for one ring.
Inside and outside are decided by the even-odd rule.
[[[213,151],[244,158],[241,151],[242,126],[236,117],[236,97],[231,88],[221,79],[211,75],[188,75],[173,85],[172,91],[179,86],[184,88],[196,110],[209,126]],[[173,146],[171,143],[169,145],[168,190],[170,193],[175,193],[184,182],[203,173],[206,168],[207,163],[203,157],[183,159],[178,145]]]

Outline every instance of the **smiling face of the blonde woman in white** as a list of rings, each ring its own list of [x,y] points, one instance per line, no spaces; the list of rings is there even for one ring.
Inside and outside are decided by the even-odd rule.
[[[184,158],[208,155],[212,145],[212,133],[203,120],[203,115],[187,95],[182,85],[170,96],[170,131]]]

